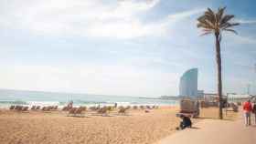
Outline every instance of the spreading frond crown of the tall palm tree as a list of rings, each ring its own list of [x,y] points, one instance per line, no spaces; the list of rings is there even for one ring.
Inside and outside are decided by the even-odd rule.
[[[197,18],[197,27],[203,28],[203,35],[208,35],[211,33],[221,34],[222,31],[229,31],[237,34],[237,32],[231,29],[233,26],[240,25],[239,23],[232,23],[230,20],[234,18],[234,15],[224,15],[226,7],[218,9],[218,12],[212,11],[210,8]]]

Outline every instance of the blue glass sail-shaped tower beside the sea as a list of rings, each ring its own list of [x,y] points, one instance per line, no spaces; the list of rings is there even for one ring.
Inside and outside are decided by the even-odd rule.
[[[179,96],[181,97],[203,97],[204,91],[197,90],[198,69],[187,70],[179,82]]]

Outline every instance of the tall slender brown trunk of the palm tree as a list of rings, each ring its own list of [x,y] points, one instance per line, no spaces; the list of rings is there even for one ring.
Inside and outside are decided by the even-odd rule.
[[[220,39],[219,33],[215,33],[216,38],[216,62],[218,69],[218,96],[219,96],[219,118],[222,119],[222,78],[221,78],[221,56],[220,56]]]

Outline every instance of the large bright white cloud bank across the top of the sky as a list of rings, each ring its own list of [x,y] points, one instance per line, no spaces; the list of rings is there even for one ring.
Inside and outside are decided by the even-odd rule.
[[[0,2],[0,27],[25,29],[36,35],[89,36],[129,39],[164,36],[176,21],[201,12],[193,9],[144,23],[160,0],[130,0],[103,3],[101,0],[18,0]]]

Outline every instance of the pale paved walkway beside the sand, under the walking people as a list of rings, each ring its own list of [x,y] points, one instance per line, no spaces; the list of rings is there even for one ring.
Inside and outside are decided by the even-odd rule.
[[[254,115],[253,115],[254,117]],[[256,144],[256,125],[245,127],[242,116],[236,121],[204,119],[197,129],[176,132],[157,144]]]

